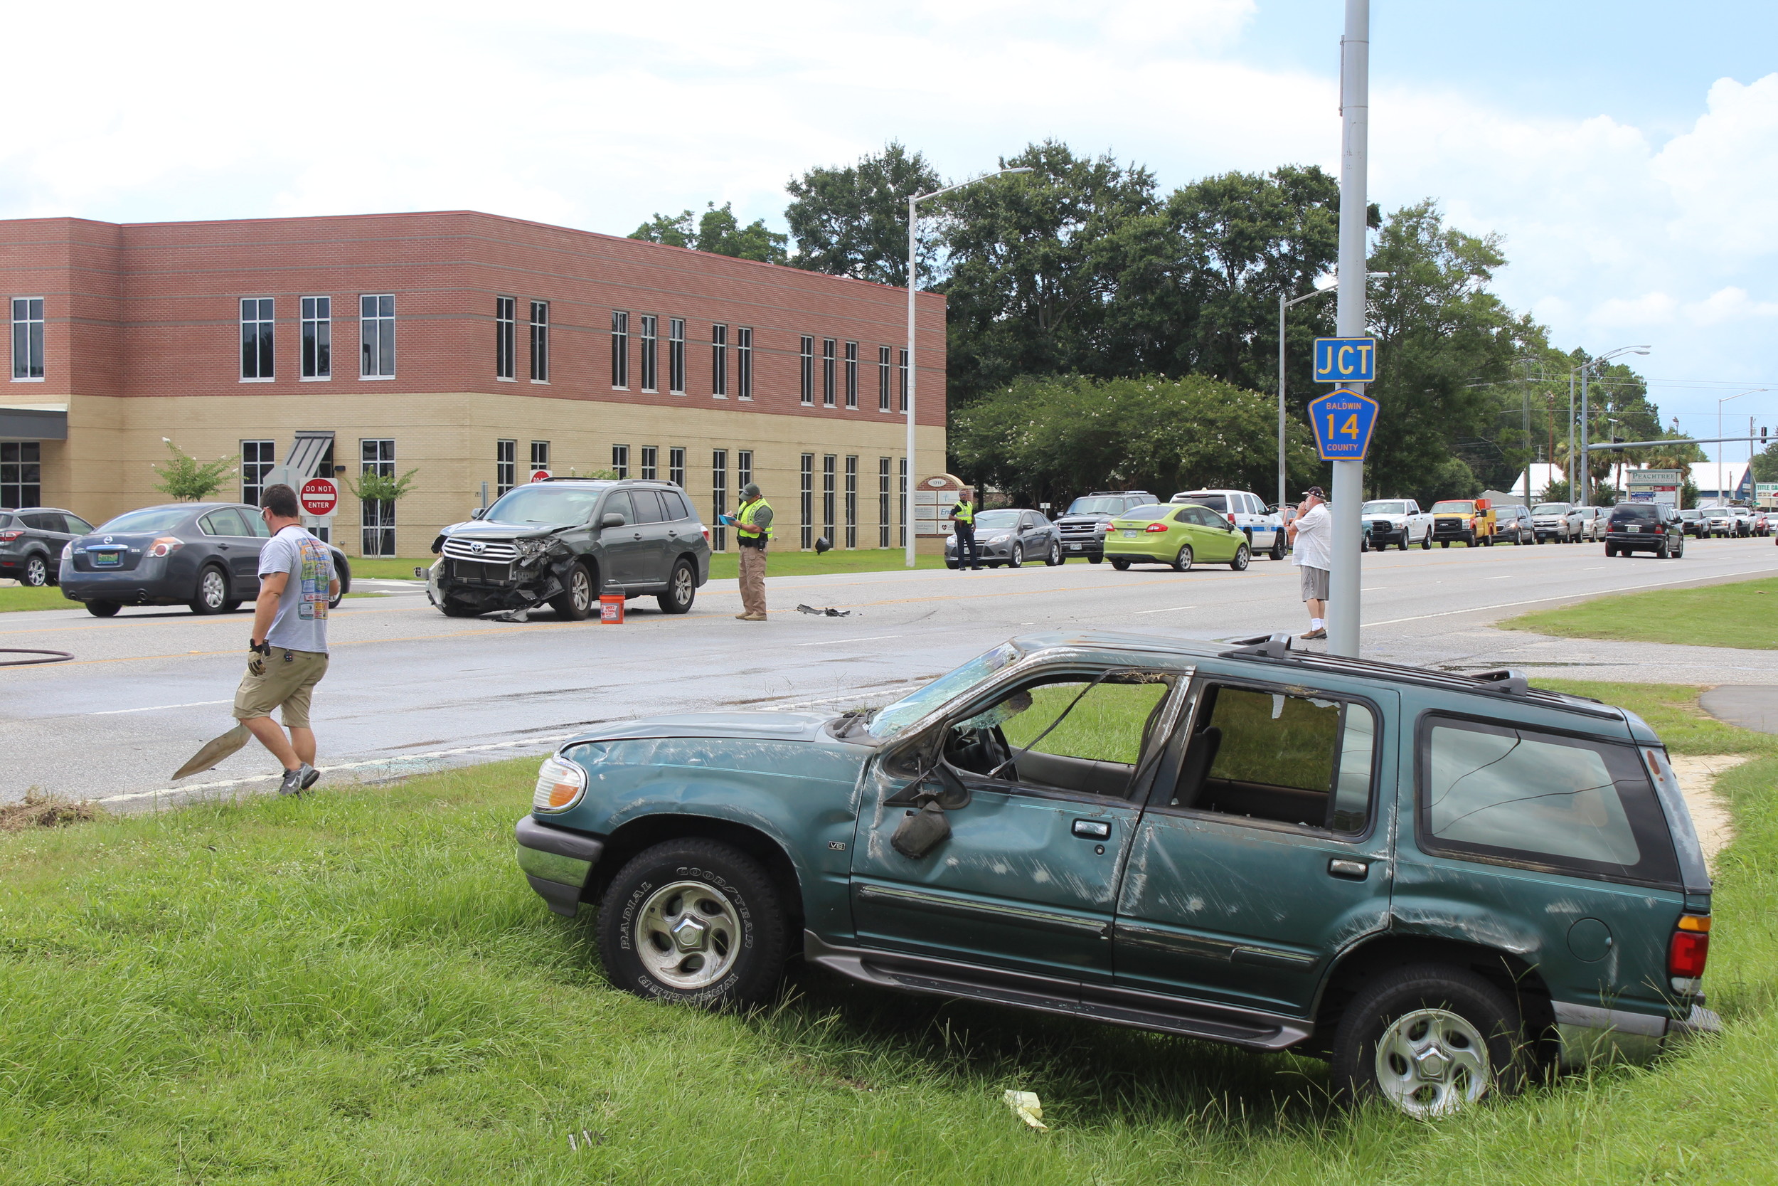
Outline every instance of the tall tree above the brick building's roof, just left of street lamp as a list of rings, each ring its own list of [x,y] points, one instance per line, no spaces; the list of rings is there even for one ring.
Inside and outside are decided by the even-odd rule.
[[[889,140],[855,165],[809,169],[784,187],[797,240],[791,263],[811,272],[907,284],[907,199],[944,188],[919,153]],[[937,240],[923,235],[919,268],[932,276]]]

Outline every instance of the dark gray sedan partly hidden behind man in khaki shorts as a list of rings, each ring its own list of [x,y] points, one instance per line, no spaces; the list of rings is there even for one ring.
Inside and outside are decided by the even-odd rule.
[[[260,549],[270,535],[260,509],[244,503],[130,510],[62,548],[62,596],[84,601],[94,617],[112,617],[126,605],[228,613],[260,596]],[[343,551],[329,548],[343,597],[352,567]]]

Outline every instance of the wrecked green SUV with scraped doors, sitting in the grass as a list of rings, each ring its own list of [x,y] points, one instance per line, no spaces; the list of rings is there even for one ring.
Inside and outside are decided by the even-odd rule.
[[[1714,1031],[1710,878],[1661,740],[1282,637],[1013,638],[873,711],[637,720],[519,820],[613,983],[905,992],[1298,1051],[1442,1115]]]

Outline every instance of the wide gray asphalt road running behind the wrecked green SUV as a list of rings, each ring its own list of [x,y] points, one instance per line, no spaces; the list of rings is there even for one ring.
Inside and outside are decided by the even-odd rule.
[[[1591,644],[1488,622],[1602,592],[1778,574],[1773,541],[1693,542],[1682,560],[1607,560],[1598,544],[1451,548],[1364,557],[1364,654],[1456,670],[1680,683],[1778,683],[1778,658]],[[1124,629],[1234,638],[1307,629],[1296,569],[1173,573],[1109,564],[983,573],[898,571],[768,581],[772,619],[738,622],[734,581],[699,590],[685,617],[631,603],[624,626],[446,619],[400,581],[332,617],[332,669],[315,699],[329,779],[537,752],[587,725],[644,713],[882,702],[1026,631]],[[834,606],[811,617],[795,606]],[[0,802],[30,788],[142,809],[188,795],[263,791],[276,763],[251,743],[174,788],[197,747],[231,727],[249,617],[80,608],[0,615],[0,645],[73,661],[0,669]],[[1696,651],[1698,654],[1693,654]]]

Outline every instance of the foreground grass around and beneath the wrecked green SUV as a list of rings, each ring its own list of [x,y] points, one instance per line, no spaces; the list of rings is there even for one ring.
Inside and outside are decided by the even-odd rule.
[[[0,836],[0,1181],[1771,1181],[1778,738],[1691,688],[1570,686],[1766,756],[1721,782],[1728,1033],[1646,1070],[1417,1124],[1330,1108],[1310,1060],[811,971],[750,1017],[647,1005],[517,875],[525,759]]]

